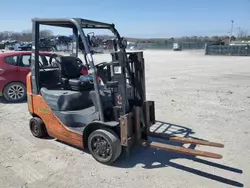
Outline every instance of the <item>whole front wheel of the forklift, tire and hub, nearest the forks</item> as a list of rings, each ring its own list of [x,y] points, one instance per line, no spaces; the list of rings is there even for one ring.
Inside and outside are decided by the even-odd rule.
[[[111,129],[97,129],[88,137],[88,149],[94,159],[102,164],[113,163],[122,151],[117,134]]]

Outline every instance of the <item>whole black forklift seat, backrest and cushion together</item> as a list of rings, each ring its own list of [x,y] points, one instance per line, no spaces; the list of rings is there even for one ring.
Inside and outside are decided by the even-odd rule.
[[[60,56],[56,58],[61,70],[61,82],[64,89],[74,91],[90,91],[94,89],[92,79],[81,75],[82,67],[77,63],[77,58]]]

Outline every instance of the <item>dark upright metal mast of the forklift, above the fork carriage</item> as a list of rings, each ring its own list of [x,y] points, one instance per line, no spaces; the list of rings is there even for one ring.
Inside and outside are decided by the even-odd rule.
[[[146,101],[145,68],[143,52],[113,52],[108,64],[108,81],[116,85],[113,91],[115,117],[120,117],[141,106]],[[117,120],[115,118],[115,120]]]

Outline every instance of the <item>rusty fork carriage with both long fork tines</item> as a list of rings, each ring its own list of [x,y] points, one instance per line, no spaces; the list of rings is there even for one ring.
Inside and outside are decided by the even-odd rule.
[[[181,146],[173,146],[170,144],[151,142],[148,137],[160,138],[170,140],[183,144],[205,145],[211,147],[223,148],[224,145],[215,142],[209,142],[193,138],[183,138],[178,136],[169,136],[150,131],[150,127],[155,124],[155,108],[153,101],[146,101],[142,107],[134,107],[134,111],[122,116],[121,123],[121,145],[130,148],[134,145],[143,147],[156,148],[175,153],[182,153],[186,155],[202,156],[214,159],[221,159],[222,156],[216,153],[207,151],[200,151],[195,149],[188,149]]]

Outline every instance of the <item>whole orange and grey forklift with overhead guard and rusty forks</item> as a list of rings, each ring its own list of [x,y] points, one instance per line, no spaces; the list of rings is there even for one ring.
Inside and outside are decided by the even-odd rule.
[[[51,136],[79,148],[88,148],[100,163],[111,164],[133,146],[158,148],[187,155],[221,159],[206,151],[187,149],[160,142],[150,137],[180,143],[224,147],[222,144],[193,138],[157,134],[154,101],[146,100],[143,52],[126,52],[127,41],[114,24],[81,18],[41,19],[33,23],[31,72],[27,75],[28,109],[31,133],[38,138]],[[69,56],[57,56],[55,65],[39,63],[39,27],[57,26],[72,29],[73,48]],[[95,64],[92,46],[96,41],[85,29],[108,29],[114,34],[112,61]],[[89,75],[81,75],[82,50]],[[100,85],[99,75],[105,80]]]

